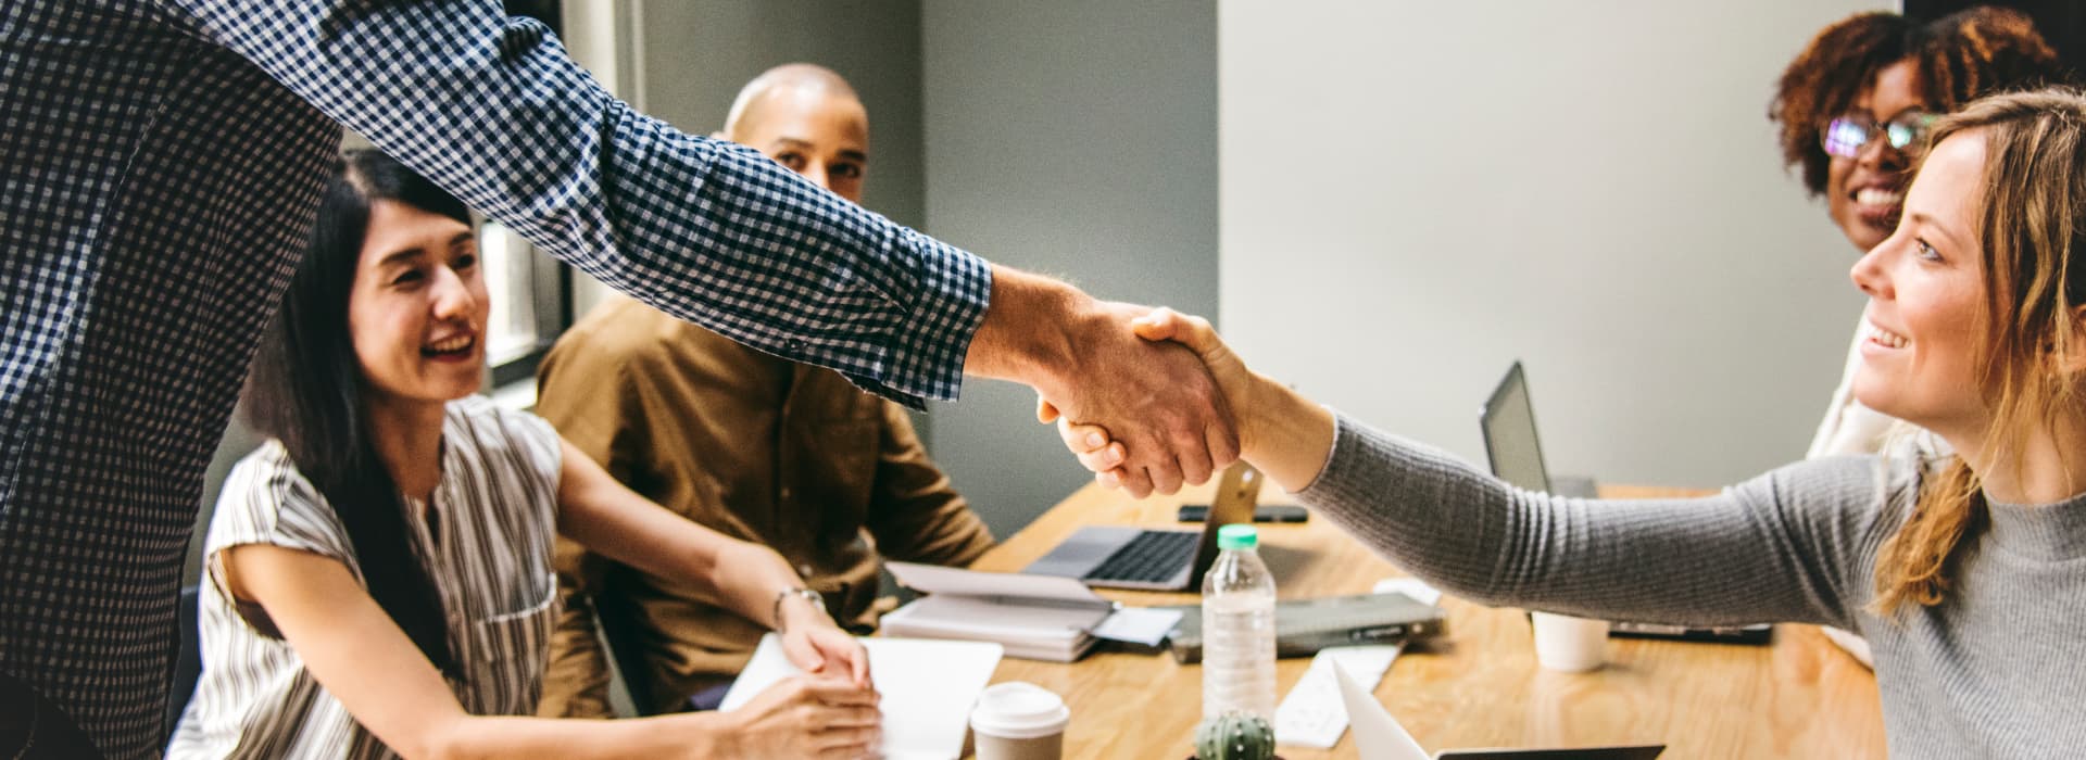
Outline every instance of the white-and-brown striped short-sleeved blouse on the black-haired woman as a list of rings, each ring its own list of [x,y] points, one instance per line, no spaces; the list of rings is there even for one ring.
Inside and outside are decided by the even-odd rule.
[[[557,623],[557,473],[549,423],[474,396],[451,402],[442,423],[434,531],[428,504],[407,500],[413,550],[440,591],[465,673],[451,681],[465,712],[536,712]],[[313,681],[290,643],[261,633],[225,593],[217,552],[242,543],[323,554],[361,579],[346,529],[280,444],[240,460],[204,550],[202,679],[167,756],[394,758]]]

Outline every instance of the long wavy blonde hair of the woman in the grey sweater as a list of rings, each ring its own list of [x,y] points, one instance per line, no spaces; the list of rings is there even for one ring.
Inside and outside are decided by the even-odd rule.
[[[1986,142],[1975,235],[1988,319],[1973,356],[1992,412],[1986,460],[2019,468],[2038,421],[2086,421],[2080,375],[2067,369],[2086,350],[2078,339],[2086,273],[2076,260],[2086,254],[2086,94],[1975,100],[1936,123],[1930,146],[1950,135]],[[1905,525],[1877,552],[1877,612],[1942,602],[1961,550],[1986,529],[1982,487],[1961,456],[1927,471]]]

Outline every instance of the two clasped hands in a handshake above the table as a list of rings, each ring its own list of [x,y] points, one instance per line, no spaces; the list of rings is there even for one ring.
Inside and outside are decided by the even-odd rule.
[[[1037,389],[1037,419],[1103,485],[1174,493],[1245,458],[1283,487],[1316,479],[1333,414],[1245,369],[1202,316],[1097,302],[995,271],[968,371]]]

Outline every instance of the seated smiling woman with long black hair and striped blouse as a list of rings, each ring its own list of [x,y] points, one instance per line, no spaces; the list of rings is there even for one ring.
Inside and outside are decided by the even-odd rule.
[[[207,543],[204,673],[173,758],[862,756],[859,641],[772,550],[645,502],[474,396],[486,285],[461,202],[348,152],[246,387],[271,437]],[[809,677],[730,714],[549,720],[557,533],[782,631]]]

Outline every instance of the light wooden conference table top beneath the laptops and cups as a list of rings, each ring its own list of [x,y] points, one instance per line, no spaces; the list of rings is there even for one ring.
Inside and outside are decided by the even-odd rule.
[[[1212,481],[1214,483],[1214,481]],[[1208,504],[1210,485],[1131,500],[1087,485],[972,564],[1020,571],[1081,525],[1179,527],[1174,508]],[[1698,491],[1604,487],[1608,498]],[[1277,489],[1262,504],[1287,500]],[[1262,558],[1281,598],[1364,593],[1404,575],[1312,514],[1260,525]],[[1193,604],[1191,593],[1103,591],[1124,604]],[[1535,664],[1521,610],[1444,598],[1448,635],[1391,664],[1377,698],[1429,752],[1665,743],[1663,758],[1882,758],[1875,677],[1817,627],[1777,625],[1773,645],[1612,639],[1608,664],[1581,675]],[[1308,658],[1279,660],[1277,695]],[[1101,648],[1081,662],[1001,660],[993,683],[1030,681],[1072,708],[1066,758],[1187,758],[1202,718],[1202,668],[1164,654]],[[1354,733],[1333,750],[1281,748],[1289,760],[1354,758]]]

